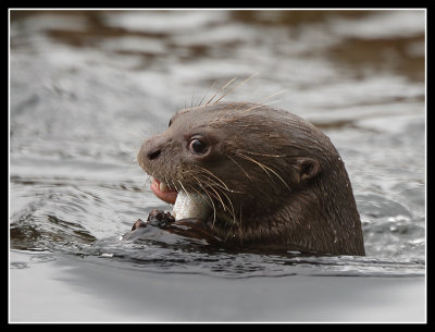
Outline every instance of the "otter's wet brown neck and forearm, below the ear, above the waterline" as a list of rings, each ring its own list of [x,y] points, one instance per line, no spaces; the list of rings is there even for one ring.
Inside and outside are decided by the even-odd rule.
[[[213,230],[239,245],[261,241],[306,251],[364,256],[360,216],[340,159],[335,170],[332,179],[314,180],[310,187],[291,193],[284,208],[249,218],[241,213],[236,221],[221,217],[213,222]]]

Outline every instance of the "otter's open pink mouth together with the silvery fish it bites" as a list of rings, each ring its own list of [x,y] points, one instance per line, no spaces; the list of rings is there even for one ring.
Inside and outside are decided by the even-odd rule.
[[[172,216],[175,220],[196,218],[206,219],[210,214],[207,199],[200,194],[188,194],[175,190],[154,177],[151,177],[151,190],[161,200],[173,205]]]

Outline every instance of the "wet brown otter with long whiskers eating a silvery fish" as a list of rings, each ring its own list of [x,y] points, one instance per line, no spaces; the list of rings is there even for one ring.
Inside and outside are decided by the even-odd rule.
[[[177,208],[183,196],[192,205],[187,214],[181,208],[165,214],[172,218],[165,228],[176,233],[364,255],[340,156],[314,125],[285,110],[245,102],[179,110],[164,133],[141,145],[137,160],[159,198]]]

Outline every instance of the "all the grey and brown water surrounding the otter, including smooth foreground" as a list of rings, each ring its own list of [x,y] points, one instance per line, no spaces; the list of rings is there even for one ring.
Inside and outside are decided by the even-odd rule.
[[[423,11],[12,11],[11,319],[422,321],[424,57]],[[152,208],[170,209],[136,163],[141,140],[257,72],[225,99],[288,89],[268,102],[313,122],[339,150],[368,256],[232,253],[167,234],[121,242]],[[362,316],[344,305],[355,298],[346,287],[366,295],[356,297]],[[222,293],[234,296],[226,311]],[[332,294],[336,310],[313,309]],[[75,311],[62,311],[65,298]],[[373,306],[380,298],[391,303]]]

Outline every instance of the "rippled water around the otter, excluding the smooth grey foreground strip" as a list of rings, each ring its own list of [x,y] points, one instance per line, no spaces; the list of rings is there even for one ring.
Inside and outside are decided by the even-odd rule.
[[[422,11],[12,11],[11,247],[223,276],[423,274],[424,20]],[[141,140],[214,82],[256,72],[226,99],[288,89],[277,106],[320,126],[346,161],[368,257],[228,253],[178,237],[120,243],[151,208],[169,209],[144,187]]]

